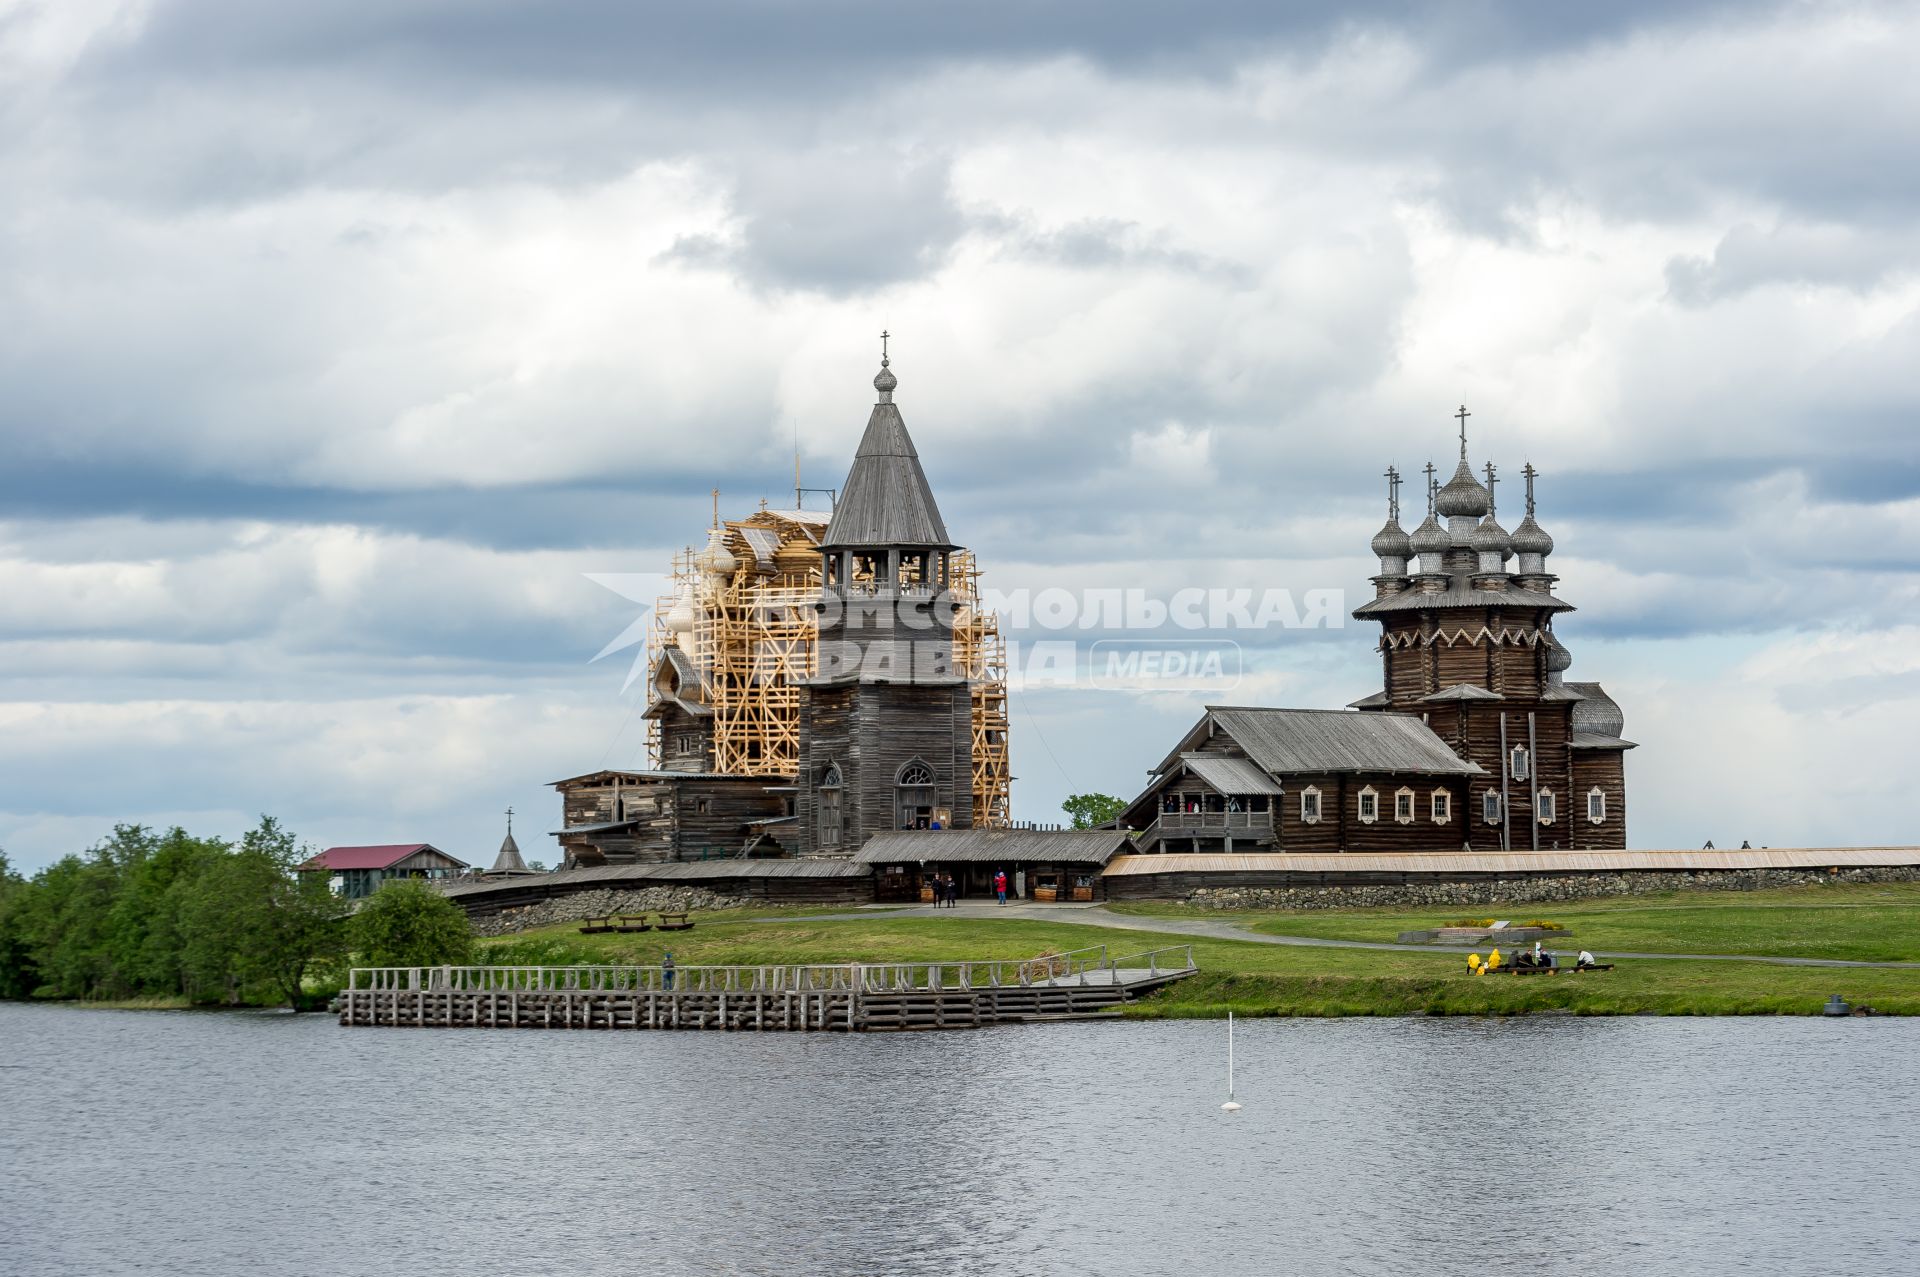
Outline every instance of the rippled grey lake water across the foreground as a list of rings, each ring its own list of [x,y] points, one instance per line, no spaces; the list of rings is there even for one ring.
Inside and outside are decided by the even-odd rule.
[[[1920,1022],[1236,1043],[0,1004],[0,1271],[1920,1271]]]

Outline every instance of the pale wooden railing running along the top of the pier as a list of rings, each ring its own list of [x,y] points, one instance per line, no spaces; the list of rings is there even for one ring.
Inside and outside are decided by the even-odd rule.
[[[1192,945],[1112,956],[1106,945],[1033,958],[799,966],[355,966],[348,993],[931,993],[1110,985],[1192,972]]]

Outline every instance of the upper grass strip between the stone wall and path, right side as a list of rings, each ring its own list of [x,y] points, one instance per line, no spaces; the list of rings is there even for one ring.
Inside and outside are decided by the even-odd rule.
[[[1920,962],[1920,883],[1834,883],[1774,891],[1668,891],[1561,904],[1442,904],[1356,910],[1204,910],[1114,904],[1137,916],[1204,916],[1269,935],[1392,941],[1461,918],[1544,918],[1567,945],[1624,952],[1740,952],[1782,958]]]

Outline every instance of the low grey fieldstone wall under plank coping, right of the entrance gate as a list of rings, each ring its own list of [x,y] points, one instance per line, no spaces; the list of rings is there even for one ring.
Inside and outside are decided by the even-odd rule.
[[[1920,881],[1920,868],[1724,870],[1667,874],[1569,874],[1457,883],[1354,887],[1196,887],[1183,901],[1200,908],[1365,908],[1369,904],[1530,904],[1659,891],[1759,891],[1836,881]]]

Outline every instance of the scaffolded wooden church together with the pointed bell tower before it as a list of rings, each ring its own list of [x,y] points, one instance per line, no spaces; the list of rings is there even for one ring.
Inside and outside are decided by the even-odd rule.
[[[566,868],[851,858],[883,831],[1006,826],[998,624],[879,363],[831,515],[716,517],[659,609],[659,766],[555,782]]]

